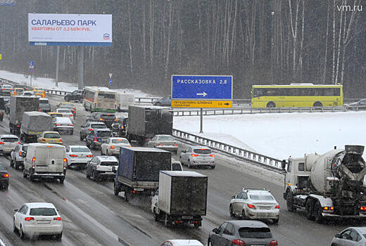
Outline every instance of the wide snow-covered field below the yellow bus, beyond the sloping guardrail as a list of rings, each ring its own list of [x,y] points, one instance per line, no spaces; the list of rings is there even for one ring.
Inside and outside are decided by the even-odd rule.
[[[366,145],[366,112],[292,112],[203,117],[206,137],[286,159],[325,153],[334,146]],[[199,117],[175,117],[174,128],[198,134]],[[208,135],[207,135],[208,134]],[[225,135],[230,136],[226,138]],[[210,136],[210,137],[209,137]],[[364,155],[366,157],[366,155]]]

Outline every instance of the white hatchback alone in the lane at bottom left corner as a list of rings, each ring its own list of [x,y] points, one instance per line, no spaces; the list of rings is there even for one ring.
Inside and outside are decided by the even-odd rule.
[[[25,203],[14,212],[13,229],[19,231],[20,239],[25,235],[56,235],[56,239],[61,240],[63,223],[52,203]]]

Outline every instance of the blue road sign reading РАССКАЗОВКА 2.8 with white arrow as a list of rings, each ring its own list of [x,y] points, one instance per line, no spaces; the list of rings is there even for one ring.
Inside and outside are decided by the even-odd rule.
[[[232,76],[172,75],[172,99],[232,100]]]

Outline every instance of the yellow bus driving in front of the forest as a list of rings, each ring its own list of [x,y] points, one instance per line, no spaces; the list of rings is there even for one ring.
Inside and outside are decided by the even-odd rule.
[[[252,108],[343,106],[343,89],[335,84],[253,85]]]

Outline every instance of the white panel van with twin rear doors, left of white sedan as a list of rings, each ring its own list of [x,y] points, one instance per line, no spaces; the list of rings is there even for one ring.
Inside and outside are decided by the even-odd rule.
[[[65,180],[68,161],[65,158],[65,146],[47,143],[30,143],[24,159],[23,177],[31,181],[41,178]]]

